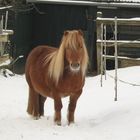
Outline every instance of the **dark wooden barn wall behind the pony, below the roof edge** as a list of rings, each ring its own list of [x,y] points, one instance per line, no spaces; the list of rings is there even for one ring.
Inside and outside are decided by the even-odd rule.
[[[16,12],[14,18],[15,35],[13,39],[13,56],[24,55],[24,59],[14,66],[16,73],[24,73],[26,57],[32,48],[40,44],[48,44],[58,47],[65,30],[82,29],[90,57],[89,72],[96,71],[96,13],[101,11],[103,17],[132,18],[140,17],[140,9],[117,8],[104,9],[96,6],[74,6],[74,5],[49,5],[35,4],[33,10]],[[140,28],[119,27],[119,39],[140,38]],[[132,35],[133,34],[133,35]],[[111,27],[108,29],[107,37],[112,37]],[[126,51],[127,50],[123,50]],[[134,50],[133,55],[140,55]],[[110,64],[112,67],[113,63]]]

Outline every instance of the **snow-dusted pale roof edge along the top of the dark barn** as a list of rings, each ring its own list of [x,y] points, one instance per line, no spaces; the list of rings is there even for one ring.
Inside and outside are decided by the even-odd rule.
[[[140,0],[26,0],[29,3],[140,8]]]

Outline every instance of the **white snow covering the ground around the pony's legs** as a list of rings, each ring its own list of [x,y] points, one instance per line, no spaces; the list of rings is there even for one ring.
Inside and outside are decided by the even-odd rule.
[[[119,79],[140,85],[140,66],[119,69]],[[107,71],[114,76],[114,71]],[[28,86],[25,76],[0,75],[1,140],[139,140],[140,86],[118,82],[114,101],[114,80],[107,76],[100,87],[100,75],[87,77],[78,100],[75,124],[66,120],[68,98],[63,99],[62,126],[53,123],[53,100],[45,103],[45,116],[33,120],[26,113]]]

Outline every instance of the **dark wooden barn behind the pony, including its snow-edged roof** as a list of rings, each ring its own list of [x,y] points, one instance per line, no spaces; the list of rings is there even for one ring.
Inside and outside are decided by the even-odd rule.
[[[85,35],[90,64],[88,71],[97,71],[97,12],[106,18],[140,17],[139,0],[27,0],[27,5],[14,11],[14,51],[13,56],[24,55],[15,63],[13,70],[24,73],[26,57],[32,48],[40,44],[57,47],[65,30],[82,29]],[[140,27],[121,26],[119,39],[140,39]],[[107,38],[112,37],[112,27],[107,30]],[[138,48],[121,49],[126,56],[140,57]],[[108,69],[114,63],[108,62]]]

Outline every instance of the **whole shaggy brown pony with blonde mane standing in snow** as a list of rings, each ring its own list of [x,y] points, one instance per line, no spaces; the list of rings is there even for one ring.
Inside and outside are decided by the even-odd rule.
[[[61,125],[61,98],[70,96],[68,123],[74,122],[77,99],[82,93],[88,54],[80,30],[65,31],[59,49],[39,46],[32,50],[26,63],[29,85],[27,112],[38,119],[44,115],[47,97],[54,99],[57,125]]]

